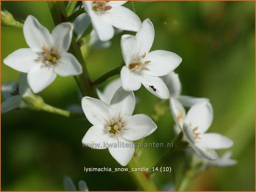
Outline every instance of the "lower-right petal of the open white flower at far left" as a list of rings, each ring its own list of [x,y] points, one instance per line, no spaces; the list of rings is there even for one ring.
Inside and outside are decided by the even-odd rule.
[[[82,66],[71,53],[65,53],[54,66],[54,71],[63,77],[82,73]]]

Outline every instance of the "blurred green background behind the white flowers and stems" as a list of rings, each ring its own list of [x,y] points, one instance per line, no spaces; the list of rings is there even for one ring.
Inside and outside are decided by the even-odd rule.
[[[46,2],[2,5],[18,21],[31,14],[48,29],[54,27]],[[131,2],[125,6],[133,9]],[[238,164],[211,168],[192,181],[188,190],[255,190],[254,2],[134,2],[134,6],[141,21],[150,18],[155,26],[151,50],[170,50],[183,58],[175,70],[183,85],[182,94],[210,98],[214,122],[209,131],[234,141],[231,150]],[[27,47],[22,29],[2,27],[1,33],[2,59]],[[120,65],[120,37],[113,38],[108,49],[90,51],[86,63],[93,80]],[[2,83],[17,82],[18,75],[2,63]],[[58,77],[40,95],[63,109],[80,105],[73,77]],[[158,99],[144,87],[135,95],[140,101],[135,114],[152,115]],[[108,150],[82,147],[81,139],[90,127],[84,119],[30,110],[11,111],[1,119],[2,190],[64,190],[64,175],[75,183],[83,179],[89,190],[137,190],[129,173],[83,172],[84,166],[120,167]],[[158,129],[147,142],[170,142],[174,137],[170,111],[156,123]],[[153,166],[163,151],[144,149],[141,165]],[[173,181],[173,173],[157,173],[155,179],[160,189]]]

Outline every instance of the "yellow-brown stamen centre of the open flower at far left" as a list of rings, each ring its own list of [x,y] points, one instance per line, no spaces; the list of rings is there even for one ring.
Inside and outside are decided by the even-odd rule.
[[[57,60],[60,58],[60,55],[55,51],[54,47],[52,49],[48,49],[47,47],[42,47],[42,54],[37,57],[38,59],[42,60],[45,65],[55,65]]]

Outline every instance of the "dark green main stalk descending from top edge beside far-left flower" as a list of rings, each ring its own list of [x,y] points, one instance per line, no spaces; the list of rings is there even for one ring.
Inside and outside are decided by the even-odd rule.
[[[52,14],[53,22],[55,25],[66,21],[66,8],[62,1],[48,1],[48,7],[50,9],[50,13]],[[97,97],[96,89],[90,81],[84,58],[82,58],[80,47],[77,45],[74,37],[72,38],[69,51],[74,55],[74,57],[77,58],[82,66],[82,74],[74,77],[76,79],[79,89],[81,90],[82,95]]]

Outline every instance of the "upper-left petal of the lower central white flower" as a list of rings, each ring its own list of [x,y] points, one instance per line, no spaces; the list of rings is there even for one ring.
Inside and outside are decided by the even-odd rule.
[[[91,97],[82,98],[82,110],[92,125],[108,125],[109,107],[103,101]]]

